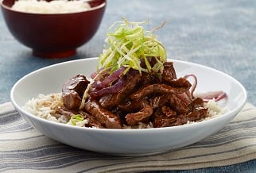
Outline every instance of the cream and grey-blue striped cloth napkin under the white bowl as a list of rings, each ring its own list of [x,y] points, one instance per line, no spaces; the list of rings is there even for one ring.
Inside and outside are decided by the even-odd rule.
[[[250,103],[225,128],[196,144],[154,156],[106,156],[38,133],[10,102],[0,105],[0,171],[134,172],[217,167],[256,159],[256,108]]]

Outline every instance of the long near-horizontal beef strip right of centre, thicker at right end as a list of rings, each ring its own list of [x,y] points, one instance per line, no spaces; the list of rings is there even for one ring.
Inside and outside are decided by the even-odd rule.
[[[189,90],[190,87],[191,84],[187,80],[178,79],[175,82],[173,82],[173,86],[169,86],[165,83],[157,83],[146,87],[142,87],[141,89],[137,90],[134,94],[131,94],[130,98],[144,98],[149,94],[181,94],[184,93],[186,90]]]

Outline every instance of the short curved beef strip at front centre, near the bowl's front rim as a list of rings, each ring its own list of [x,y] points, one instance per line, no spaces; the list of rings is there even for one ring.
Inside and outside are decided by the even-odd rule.
[[[145,106],[142,110],[137,113],[128,113],[126,115],[126,122],[128,125],[137,125],[138,122],[143,122],[148,120],[151,114],[153,113],[152,106]]]

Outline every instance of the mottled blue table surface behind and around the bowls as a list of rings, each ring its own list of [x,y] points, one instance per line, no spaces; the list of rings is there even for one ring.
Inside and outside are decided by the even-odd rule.
[[[77,49],[76,56],[45,59],[32,56],[17,42],[0,13],[0,104],[10,102],[10,90],[29,72],[54,63],[99,56],[106,30],[114,21],[149,20],[153,29],[169,21],[155,34],[170,59],[200,63],[223,71],[246,88],[248,102],[256,106],[256,1],[239,0],[111,0],[95,36]],[[218,85],[219,83],[216,83]],[[169,172],[256,172],[256,160],[226,167]]]

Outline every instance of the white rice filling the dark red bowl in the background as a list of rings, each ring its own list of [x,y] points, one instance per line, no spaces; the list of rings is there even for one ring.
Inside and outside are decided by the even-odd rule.
[[[26,13],[76,13],[90,9],[90,4],[83,0],[54,0],[51,2],[42,0],[18,0],[12,6],[12,10]]]

